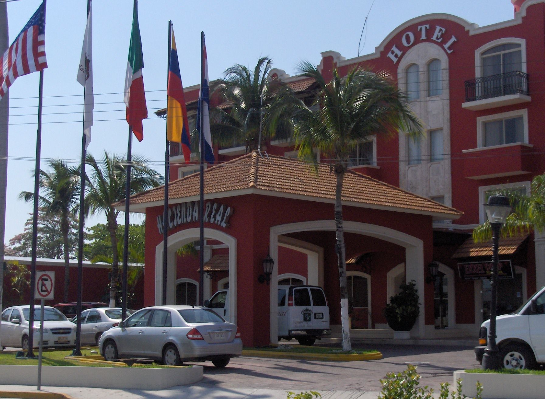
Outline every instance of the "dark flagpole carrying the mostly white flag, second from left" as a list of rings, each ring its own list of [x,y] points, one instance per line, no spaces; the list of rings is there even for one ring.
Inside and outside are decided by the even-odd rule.
[[[89,19],[89,10],[91,9],[91,0],[87,0],[87,19]],[[76,305],[76,348],[74,356],[81,356],[81,301],[83,291],[83,227],[85,226],[84,211],[85,211],[85,160],[87,148],[87,135],[85,134],[85,112],[87,102],[86,87],[83,86],[83,120],[81,128],[81,170],[80,170],[80,220],[78,226],[78,242],[77,242],[77,305]]]

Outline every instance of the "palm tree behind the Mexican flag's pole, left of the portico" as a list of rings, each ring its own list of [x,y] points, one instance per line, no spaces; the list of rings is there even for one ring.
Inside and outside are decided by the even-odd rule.
[[[117,216],[119,210],[112,204],[125,199],[127,177],[126,158],[104,152],[104,158],[96,161],[94,156],[87,154],[86,163],[93,169],[87,176],[88,192],[85,198],[86,213],[104,212],[106,225],[112,242],[112,279],[110,282],[110,306],[116,305],[116,283],[119,272]],[[131,161],[131,195],[162,184],[158,173],[146,166],[149,163],[138,155],[132,155]]]

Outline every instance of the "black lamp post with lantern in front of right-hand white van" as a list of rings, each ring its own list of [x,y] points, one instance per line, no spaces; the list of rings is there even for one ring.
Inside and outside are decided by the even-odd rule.
[[[482,356],[483,370],[498,370],[502,368],[502,361],[499,349],[496,345],[496,304],[498,303],[498,244],[500,229],[505,223],[507,215],[511,212],[509,198],[501,195],[488,197],[488,203],[483,205],[492,226],[492,276],[490,276],[490,288],[492,298],[490,299],[490,325],[488,329],[488,341],[485,354]]]

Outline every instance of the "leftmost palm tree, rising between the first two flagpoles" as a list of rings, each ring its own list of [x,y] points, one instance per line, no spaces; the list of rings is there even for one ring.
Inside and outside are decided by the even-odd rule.
[[[77,167],[68,167],[66,162],[54,159],[49,162],[51,172],[40,170],[40,189],[44,192],[39,196],[39,205],[46,215],[60,216],[60,233],[63,236],[64,255],[64,301],[68,301],[70,286],[70,215],[76,214],[80,204],[80,181],[77,177]],[[22,191],[19,198],[26,202],[34,200],[34,193]]]

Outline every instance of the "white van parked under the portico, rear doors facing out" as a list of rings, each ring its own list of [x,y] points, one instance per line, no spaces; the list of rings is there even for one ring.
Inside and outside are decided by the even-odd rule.
[[[228,318],[228,295],[229,290],[222,289],[204,305]],[[278,286],[278,340],[295,338],[301,345],[312,345],[325,335],[331,335],[331,329],[324,290],[316,286]]]

